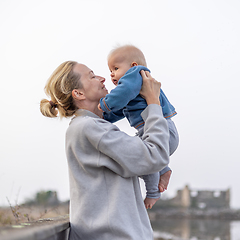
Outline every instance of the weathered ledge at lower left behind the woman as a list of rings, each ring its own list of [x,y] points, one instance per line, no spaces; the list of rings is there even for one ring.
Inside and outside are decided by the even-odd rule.
[[[69,216],[39,219],[0,228],[1,240],[67,240]]]

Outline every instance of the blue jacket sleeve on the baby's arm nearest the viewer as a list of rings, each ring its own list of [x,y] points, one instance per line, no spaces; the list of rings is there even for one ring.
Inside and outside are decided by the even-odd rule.
[[[139,94],[142,87],[141,70],[149,71],[149,69],[143,66],[130,68],[126,74],[120,78],[116,88],[100,100],[100,105],[104,112],[108,113],[110,111],[123,109],[129,101]]]

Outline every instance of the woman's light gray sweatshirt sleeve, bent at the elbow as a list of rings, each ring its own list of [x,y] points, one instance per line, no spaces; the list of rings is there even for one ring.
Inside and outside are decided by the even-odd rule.
[[[140,176],[162,170],[169,163],[169,133],[161,107],[149,105],[142,113],[143,140],[129,136],[109,123],[96,122],[88,140],[100,151],[98,166],[107,167],[122,177]],[[106,123],[106,122],[105,122]]]

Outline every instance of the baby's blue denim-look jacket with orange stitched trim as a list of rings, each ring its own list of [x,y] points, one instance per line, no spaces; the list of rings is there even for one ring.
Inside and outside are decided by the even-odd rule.
[[[147,107],[147,103],[139,95],[142,87],[141,70],[150,72],[148,68],[140,65],[130,68],[119,79],[117,87],[100,100],[104,119],[116,122],[126,117],[130,125],[137,129],[144,124],[141,112]],[[159,99],[165,118],[171,118],[177,114],[162,89]]]

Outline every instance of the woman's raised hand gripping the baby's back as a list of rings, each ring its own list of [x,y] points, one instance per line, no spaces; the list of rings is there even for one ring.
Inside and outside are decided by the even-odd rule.
[[[142,89],[140,95],[146,100],[147,104],[160,105],[159,95],[161,83],[156,81],[148,71],[141,71],[143,78]]]

